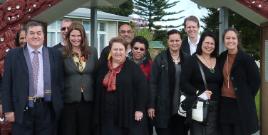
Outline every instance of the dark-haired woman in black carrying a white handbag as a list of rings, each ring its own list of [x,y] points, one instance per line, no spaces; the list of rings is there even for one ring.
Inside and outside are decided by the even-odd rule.
[[[220,97],[221,74],[216,60],[218,42],[214,34],[204,32],[197,45],[196,54],[185,61],[182,68],[181,85],[182,91],[188,95],[188,99],[202,98],[209,100],[209,113],[207,123],[190,122],[191,135],[218,135],[218,101]],[[207,82],[207,88],[202,79],[199,68],[200,63]],[[186,108],[192,108],[189,103]],[[191,114],[187,114],[191,119]]]

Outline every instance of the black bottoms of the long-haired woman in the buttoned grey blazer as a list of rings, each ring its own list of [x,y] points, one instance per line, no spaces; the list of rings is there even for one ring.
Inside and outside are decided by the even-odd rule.
[[[91,135],[92,103],[65,103],[60,122],[61,135]]]

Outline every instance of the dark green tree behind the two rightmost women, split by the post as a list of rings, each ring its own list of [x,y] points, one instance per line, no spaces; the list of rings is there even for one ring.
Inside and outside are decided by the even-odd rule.
[[[219,34],[219,12],[216,9],[209,9],[209,11],[208,16],[201,19],[206,24],[204,30]],[[239,31],[242,49],[259,60],[261,45],[260,27],[233,11],[229,11],[229,26]]]

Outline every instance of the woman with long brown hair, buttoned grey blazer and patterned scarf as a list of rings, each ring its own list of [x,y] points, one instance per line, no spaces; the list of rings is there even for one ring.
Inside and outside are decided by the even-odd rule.
[[[88,46],[84,27],[73,22],[66,35],[64,58],[64,108],[60,131],[62,135],[91,135],[93,113],[93,74],[97,52]]]

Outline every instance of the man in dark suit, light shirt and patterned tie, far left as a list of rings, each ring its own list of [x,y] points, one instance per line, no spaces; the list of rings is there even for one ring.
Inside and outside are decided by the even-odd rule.
[[[54,135],[63,106],[63,73],[59,51],[44,46],[44,28],[26,25],[27,45],[8,52],[3,76],[5,120],[12,135]]]

